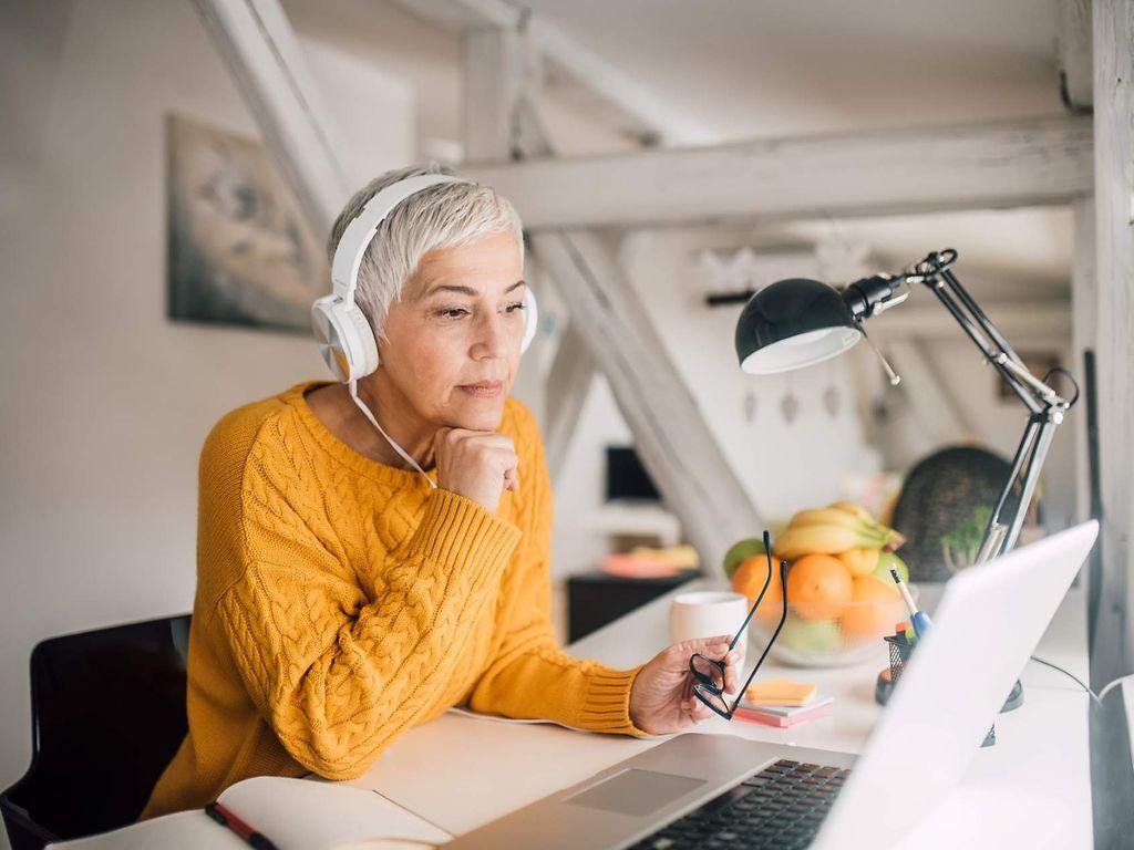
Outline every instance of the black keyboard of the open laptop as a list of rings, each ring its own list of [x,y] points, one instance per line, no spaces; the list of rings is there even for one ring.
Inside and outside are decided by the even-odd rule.
[[[781,759],[634,844],[634,850],[805,848],[849,773]]]

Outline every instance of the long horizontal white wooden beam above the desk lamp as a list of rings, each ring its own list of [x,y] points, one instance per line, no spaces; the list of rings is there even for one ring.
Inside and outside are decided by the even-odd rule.
[[[531,229],[1063,204],[1091,192],[1091,121],[1043,118],[475,165]]]

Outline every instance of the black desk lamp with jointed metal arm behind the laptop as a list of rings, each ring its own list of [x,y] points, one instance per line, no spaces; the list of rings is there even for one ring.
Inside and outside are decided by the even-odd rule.
[[[1042,379],[1027,369],[953,273],[956,260],[957,252],[946,248],[930,254],[905,272],[864,278],[843,289],[818,280],[777,281],[745,304],[736,323],[736,355],[743,371],[767,375],[836,357],[861,339],[873,348],[863,323],[905,301],[913,284],[929,288],[1029,413],[1012,473],[976,556],[976,563],[981,563],[1015,546],[1055,430],[1078,399],[1078,384],[1069,372],[1058,366]],[[874,351],[890,383],[897,385],[900,377],[877,348]],[[1065,375],[1075,388],[1075,396],[1069,401],[1047,383],[1056,372]],[[1001,518],[1008,496],[1017,485],[1021,498],[1015,511],[1012,517]]]

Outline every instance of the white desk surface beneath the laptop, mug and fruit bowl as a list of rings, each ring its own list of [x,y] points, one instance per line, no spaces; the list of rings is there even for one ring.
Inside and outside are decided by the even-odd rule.
[[[669,643],[670,597],[708,587],[714,585],[708,580],[685,585],[568,649],[577,657],[617,668],[641,663]],[[923,596],[930,611],[931,596]],[[1085,680],[1085,622],[1083,594],[1073,590],[1035,654]],[[694,731],[858,753],[880,711],[873,702],[874,678],[886,664],[881,641],[877,661],[857,668],[802,671],[769,663],[769,678],[815,681],[821,692],[836,697],[835,712],[793,730],[713,717]],[[1026,848],[1091,847],[1089,697],[1066,677],[1034,663],[1022,679],[1024,705],[1000,715],[996,746],[976,754],[963,784],[909,836],[906,847],[975,850],[1005,847],[1009,841]],[[446,714],[407,732],[366,776],[350,784],[373,789],[460,834],[661,740],[666,738],[590,734]],[[895,805],[900,804],[899,783],[892,791],[879,792],[891,793]]]

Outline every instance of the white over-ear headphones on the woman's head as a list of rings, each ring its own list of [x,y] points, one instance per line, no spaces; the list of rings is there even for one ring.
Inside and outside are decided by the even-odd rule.
[[[423,189],[446,182],[472,181],[449,175],[407,177],[375,194],[342,232],[331,263],[332,292],[319,298],[311,307],[311,324],[319,350],[339,381],[353,384],[378,368],[374,331],[355,304],[358,270],[371,239],[398,204]],[[536,324],[535,296],[528,287],[524,295],[524,341],[521,351],[526,351],[532,343]]]

